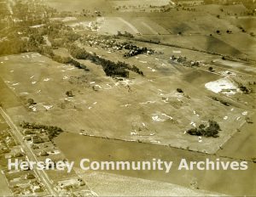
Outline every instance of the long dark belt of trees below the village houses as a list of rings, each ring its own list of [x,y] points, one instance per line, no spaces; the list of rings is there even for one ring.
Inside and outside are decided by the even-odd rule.
[[[79,48],[75,45],[69,47],[69,52],[75,59],[89,59],[96,65],[102,65],[102,68],[107,76],[121,76],[129,77],[129,71],[137,72],[143,76],[143,71],[139,70],[135,65],[128,65],[125,62],[113,62],[108,59],[103,59],[96,55],[96,53],[88,53],[83,48]]]

